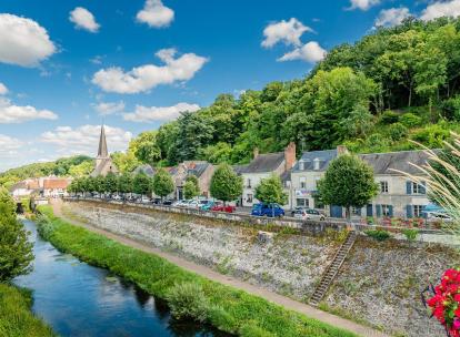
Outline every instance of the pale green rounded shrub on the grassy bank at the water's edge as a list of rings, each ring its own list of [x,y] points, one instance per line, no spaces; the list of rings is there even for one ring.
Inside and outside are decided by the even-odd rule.
[[[167,302],[177,319],[191,318],[202,323],[208,318],[208,298],[198,283],[177,284],[167,294]]]

